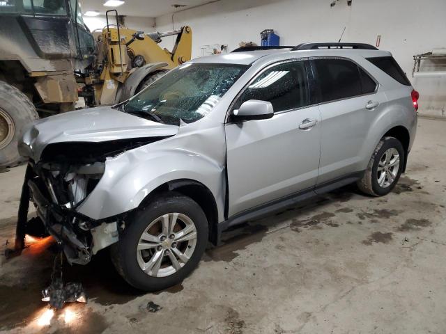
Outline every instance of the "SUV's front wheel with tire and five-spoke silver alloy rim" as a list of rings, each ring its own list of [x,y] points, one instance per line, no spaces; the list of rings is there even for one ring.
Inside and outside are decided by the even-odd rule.
[[[174,214],[178,214],[173,228],[175,239],[172,239],[172,235],[165,235],[166,239],[162,241],[163,216],[168,216],[171,225]],[[195,230],[191,228],[191,221]],[[175,244],[176,240],[187,238],[184,235],[183,238],[180,237],[180,232],[185,231],[185,228],[191,231],[186,234],[187,237],[193,237],[195,232],[196,239],[177,241]],[[147,239],[141,239],[143,233],[148,235],[146,232],[150,233],[151,241],[154,237],[157,241],[149,242]],[[174,244],[169,246],[172,241]],[[150,292],[176,285],[189,276],[198,266],[207,242],[208,221],[201,207],[191,198],[169,192],[162,194],[130,218],[125,224],[120,240],[112,246],[110,253],[116,270],[130,285]],[[146,249],[139,250],[139,247]],[[187,255],[189,260],[183,262],[176,253],[178,251]],[[172,255],[176,258],[178,269],[174,268]],[[143,267],[146,271],[143,271]]]

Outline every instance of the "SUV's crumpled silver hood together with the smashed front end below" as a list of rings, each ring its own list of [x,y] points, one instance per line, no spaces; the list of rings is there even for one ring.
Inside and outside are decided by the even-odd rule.
[[[61,113],[22,129],[18,150],[29,163],[17,219],[17,253],[24,248],[25,234],[32,235],[37,226],[52,234],[70,263],[86,264],[98,250],[116,243],[123,222],[136,208],[93,216],[83,207],[102,209],[100,186],[116,172],[111,168],[107,173],[106,166],[141,146],[176,135],[178,129],[109,106]],[[109,187],[105,185],[105,193]],[[92,196],[94,189],[99,196]],[[29,220],[30,201],[38,217]]]

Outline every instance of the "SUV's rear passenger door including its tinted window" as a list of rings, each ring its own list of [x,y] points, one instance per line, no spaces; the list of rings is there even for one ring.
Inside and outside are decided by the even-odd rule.
[[[386,97],[378,83],[346,58],[311,61],[321,111],[321,163],[318,184],[363,169],[361,150]]]

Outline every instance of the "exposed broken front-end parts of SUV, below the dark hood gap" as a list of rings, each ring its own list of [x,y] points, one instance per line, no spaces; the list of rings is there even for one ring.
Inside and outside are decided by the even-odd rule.
[[[98,250],[118,241],[118,225],[123,217],[94,221],[76,207],[98,184],[105,162],[29,161],[17,223],[16,247],[23,248],[24,234],[36,219],[27,221],[31,200],[45,230],[61,245],[70,263],[86,264]],[[26,212],[21,212],[26,209]],[[23,226],[22,226],[23,225]]]

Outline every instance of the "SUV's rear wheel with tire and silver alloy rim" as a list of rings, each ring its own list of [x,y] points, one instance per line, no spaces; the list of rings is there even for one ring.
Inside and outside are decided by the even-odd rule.
[[[358,188],[371,196],[387,195],[397,184],[405,159],[401,142],[394,137],[383,137],[371,155],[364,176],[357,181]]]

